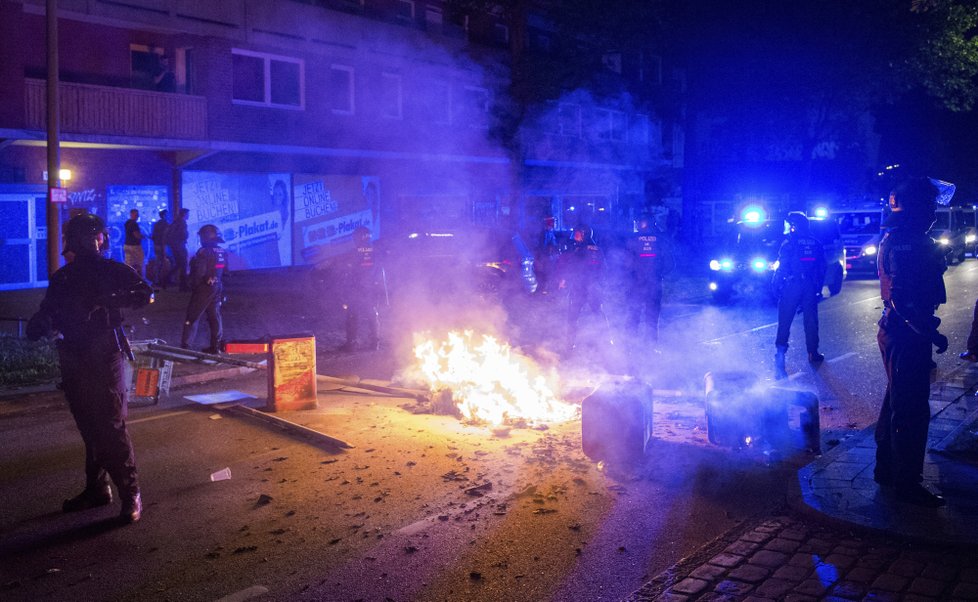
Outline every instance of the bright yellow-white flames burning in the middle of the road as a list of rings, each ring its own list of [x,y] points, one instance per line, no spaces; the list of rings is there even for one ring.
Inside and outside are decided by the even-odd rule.
[[[462,416],[501,425],[508,421],[564,422],[579,408],[554,395],[530,358],[471,330],[414,347],[418,370],[432,390],[450,389]]]

